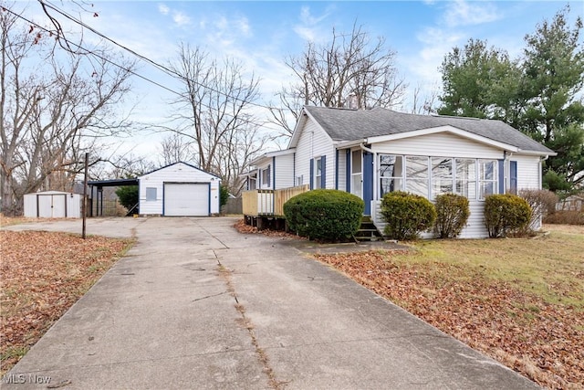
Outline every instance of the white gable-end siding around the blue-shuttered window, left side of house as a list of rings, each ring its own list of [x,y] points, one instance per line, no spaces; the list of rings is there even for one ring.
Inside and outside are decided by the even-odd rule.
[[[328,134],[312,120],[308,119],[297,143],[295,155],[296,175],[302,175],[302,184],[310,184],[310,160],[326,157],[325,188],[335,188],[335,148]]]

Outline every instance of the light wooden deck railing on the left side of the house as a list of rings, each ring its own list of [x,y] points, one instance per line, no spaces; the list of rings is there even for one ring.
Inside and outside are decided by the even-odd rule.
[[[307,192],[308,185],[280,190],[252,190],[242,194],[245,216],[284,216],[284,204],[292,196]]]

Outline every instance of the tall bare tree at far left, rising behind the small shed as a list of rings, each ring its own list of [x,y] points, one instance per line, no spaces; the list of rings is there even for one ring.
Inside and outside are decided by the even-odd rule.
[[[0,26],[2,210],[14,214],[28,192],[72,188],[84,154],[127,129],[114,107],[129,90],[133,64],[117,58],[122,66],[114,66],[97,49],[57,52],[54,39],[39,38],[9,12],[0,13]]]

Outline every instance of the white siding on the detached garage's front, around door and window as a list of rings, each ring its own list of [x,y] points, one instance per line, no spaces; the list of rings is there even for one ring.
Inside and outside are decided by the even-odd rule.
[[[211,213],[219,213],[219,184],[220,180],[213,174],[207,174],[186,163],[175,163],[150,174],[139,177],[140,181],[140,214],[163,214],[164,183],[210,183]],[[146,200],[146,188],[156,188],[156,200]]]

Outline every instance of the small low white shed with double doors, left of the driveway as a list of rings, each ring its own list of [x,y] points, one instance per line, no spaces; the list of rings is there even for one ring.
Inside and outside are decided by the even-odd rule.
[[[80,218],[81,195],[61,191],[26,194],[25,216],[32,218]]]

